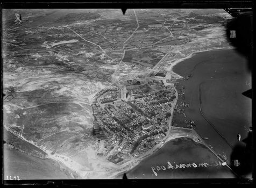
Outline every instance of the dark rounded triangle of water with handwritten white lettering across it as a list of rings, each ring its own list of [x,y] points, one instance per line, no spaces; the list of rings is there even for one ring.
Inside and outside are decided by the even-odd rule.
[[[234,177],[207,147],[189,138],[167,142],[157,153],[127,172],[126,176],[128,179]]]

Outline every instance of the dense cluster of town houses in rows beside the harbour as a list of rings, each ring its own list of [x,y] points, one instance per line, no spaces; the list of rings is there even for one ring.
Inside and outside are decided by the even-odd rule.
[[[128,95],[123,99],[119,88],[102,90],[92,105],[93,134],[109,142],[104,156],[114,163],[125,156],[138,157],[159,143],[168,131],[174,88],[162,81],[135,83],[125,87]]]

